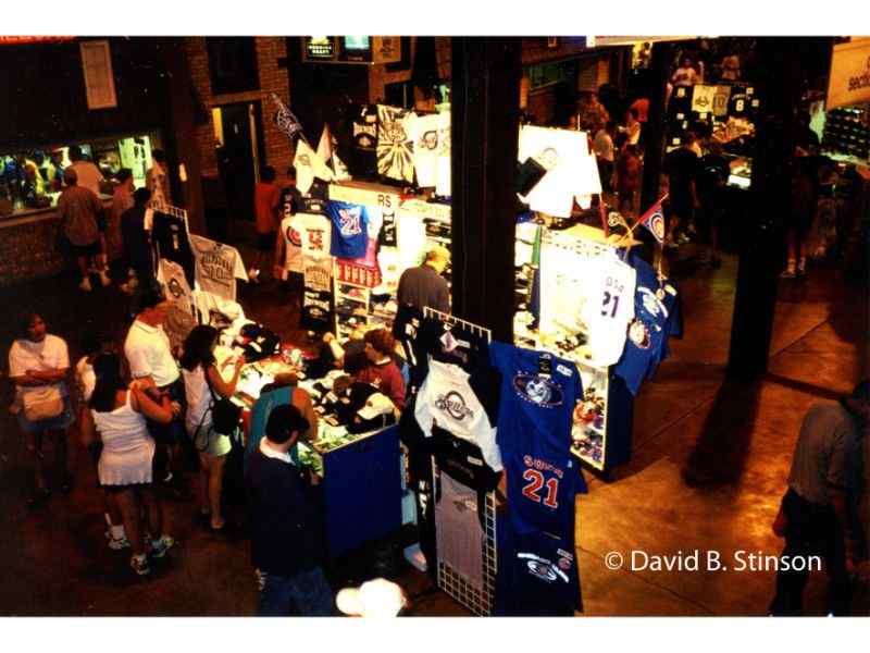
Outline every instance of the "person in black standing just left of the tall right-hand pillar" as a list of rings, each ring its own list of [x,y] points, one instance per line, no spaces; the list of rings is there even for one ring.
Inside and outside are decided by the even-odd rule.
[[[707,244],[701,262],[710,263],[713,268],[722,264],[719,258],[719,225],[724,213],[724,188],[730,174],[731,167],[722,156],[722,146],[710,138],[707,153],[698,161],[695,190],[700,208],[695,218],[701,239]]]

